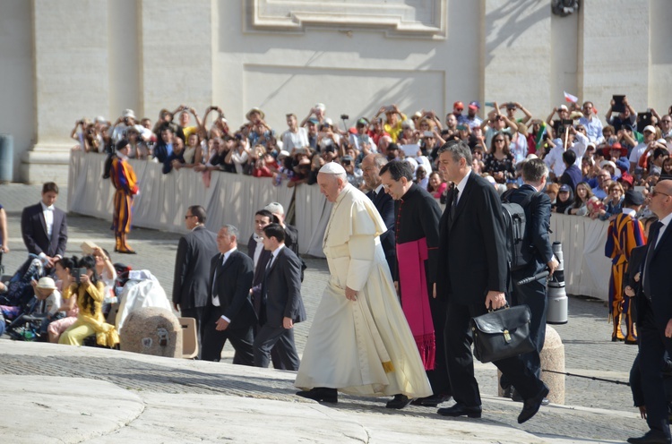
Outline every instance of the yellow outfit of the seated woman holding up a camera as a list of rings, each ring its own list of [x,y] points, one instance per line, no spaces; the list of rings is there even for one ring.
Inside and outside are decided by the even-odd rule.
[[[80,308],[77,320],[74,324],[66,329],[65,332],[58,339],[58,344],[65,344],[68,346],[82,346],[85,337],[96,335],[96,343],[99,346],[113,347],[119,343],[119,335],[116,333],[115,326],[105,322],[103,318],[102,304],[105,299],[105,286],[102,282],[97,282],[96,285],[73,284],[65,288],[63,293],[64,299],[70,299],[73,295],[77,295],[77,305]],[[91,306],[85,306],[85,295],[89,294],[93,299],[93,310]]]

